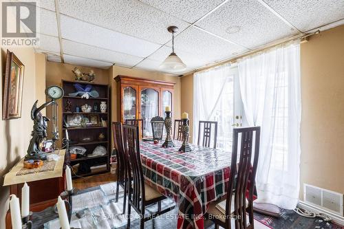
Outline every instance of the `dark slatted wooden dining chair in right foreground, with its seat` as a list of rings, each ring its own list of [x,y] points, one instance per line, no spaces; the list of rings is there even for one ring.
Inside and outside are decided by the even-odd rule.
[[[219,226],[231,229],[253,229],[253,192],[259,157],[260,127],[234,129],[230,177],[225,200],[215,201],[208,206],[205,217]],[[238,139],[241,137],[240,145]],[[239,146],[239,147],[238,147]],[[239,152],[239,164],[237,155]],[[253,162],[251,160],[253,157]],[[248,221],[247,216],[248,214]]]

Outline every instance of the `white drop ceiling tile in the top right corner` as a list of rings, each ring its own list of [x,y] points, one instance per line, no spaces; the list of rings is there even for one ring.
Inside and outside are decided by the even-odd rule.
[[[264,1],[303,32],[344,18],[343,0]]]

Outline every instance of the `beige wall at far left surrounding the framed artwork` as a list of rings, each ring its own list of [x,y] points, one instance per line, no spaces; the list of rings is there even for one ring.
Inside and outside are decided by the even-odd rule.
[[[31,48],[10,48],[25,65],[23,79],[23,105],[21,118],[16,120],[1,120],[0,124],[0,228],[5,228],[5,215],[8,210],[8,187],[3,187],[3,175],[26,154],[30,142],[33,121],[30,111],[36,97],[42,97],[42,91],[36,89],[36,79],[42,75],[36,75],[36,54]],[[37,57],[39,58],[39,57]],[[6,49],[1,47],[1,82],[5,74]],[[43,67],[43,65],[41,65]],[[44,80],[43,80],[44,81]],[[2,88],[0,91],[2,94]],[[43,91],[44,93],[44,91]],[[2,112],[2,99],[0,100]],[[0,115],[2,117],[2,113]]]

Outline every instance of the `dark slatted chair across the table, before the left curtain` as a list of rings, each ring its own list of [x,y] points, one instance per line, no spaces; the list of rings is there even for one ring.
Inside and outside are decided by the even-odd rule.
[[[212,131],[214,129],[214,132]],[[211,135],[214,135],[213,148],[216,149],[217,142],[217,122],[214,121],[200,121],[198,122],[198,140],[197,144],[200,146],[211,146]],[[202,138],[202,144],[201,143]]]

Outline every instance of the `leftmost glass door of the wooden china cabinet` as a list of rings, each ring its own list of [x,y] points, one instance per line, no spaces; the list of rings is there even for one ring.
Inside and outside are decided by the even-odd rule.
[[[136,119],[136,89],[125,87],[123,90],[123,113],[124,121]]]

